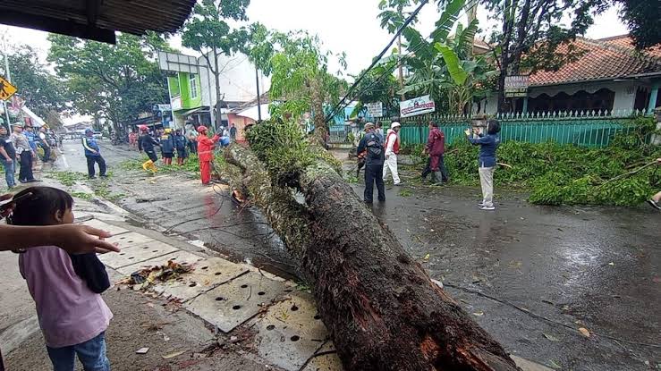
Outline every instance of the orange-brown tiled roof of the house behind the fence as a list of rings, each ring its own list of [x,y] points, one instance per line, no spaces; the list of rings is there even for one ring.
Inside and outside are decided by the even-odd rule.
[[[578,61],[566,63],[556,72],[535,72],[530,75],[530,86],[621,79],[650,73],[661,75],[661,46],[640,54],[628,36],[599,40],[577,38],[573,45],[585,53]],[[567,46],[560,46],[560,52],[566,49]]]

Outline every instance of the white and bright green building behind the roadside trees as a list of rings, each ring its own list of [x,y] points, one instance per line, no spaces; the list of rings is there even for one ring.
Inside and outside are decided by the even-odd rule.
[[[208,55],[213,62],[213,55]],[[175,53],[159,52],[158,63],[163,71],[171,72],[168,77],[170,104],[174,124],[182,127],[185,122],[211,125],[215,121],[216,78],[207,67],[204,56],[194,57]],[[221,120],[229,124],[228,114],[236,114],[240,107],[257,96],[256,69],[248,56],[219,55],[220,94],[223,105]],[[268,91],[270,79],[258,73],[260,91]]]

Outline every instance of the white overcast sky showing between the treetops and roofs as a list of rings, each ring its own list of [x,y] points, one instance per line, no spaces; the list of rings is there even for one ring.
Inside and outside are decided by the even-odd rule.
[[[346,53],[346,73],[356,74],[367,68],[372,58],[378,55],[392,38],[386,30],[379,27],[378,2],[379,0],[252,0],[248,16],[251,22],[259,21],[268,29],[309,30],[318,34],[326,49],[335,53]],[[433,2],[430,3],[425,5],[419,14],[417,28],[424,36],[428,36],[433,30],[434,22],[440,15]],[[617,14],[618,10],[612,8],[598,16],[586,36],[607,38],[627,33]],[[478,18],[480,29],[487,35],[488,30],[495,24],[487,20],[484,9],[479,8]],[[462,20],[465,22],[465,17],[462,17]],[[49,46],[46,32],[0,25],[0,38],[3,36],[12,44],[35,47],[41,59],[46,59]],[[171,44],[181,48],[181,38],[173,38]],[[339,67],[334,63],[331,68],[331,71],[335,72]]]

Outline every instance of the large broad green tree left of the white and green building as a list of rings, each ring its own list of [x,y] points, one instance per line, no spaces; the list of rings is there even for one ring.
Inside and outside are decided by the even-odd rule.
[[[52,34],[48,61],[66,82],[75,111],[106,118],[115,131],[168,100],[165,75],[156,63],[165,39],[120,34],[116,45]]]

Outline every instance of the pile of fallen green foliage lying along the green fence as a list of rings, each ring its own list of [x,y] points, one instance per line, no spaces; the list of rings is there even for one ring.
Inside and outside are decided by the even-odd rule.
[[[661,170],[653,165],[615,181],[661,157],[661,148],[646,144],[654,121],[641,118],[629,134],[618,134],[607,148],[580,148],[554,142],[507,141],[498,148],[496,187],[530,190],[529,201],[540,205],[638,205],[661,189]],[[451,181],[479,185],[478,146],[455,140],[446,149]]]

